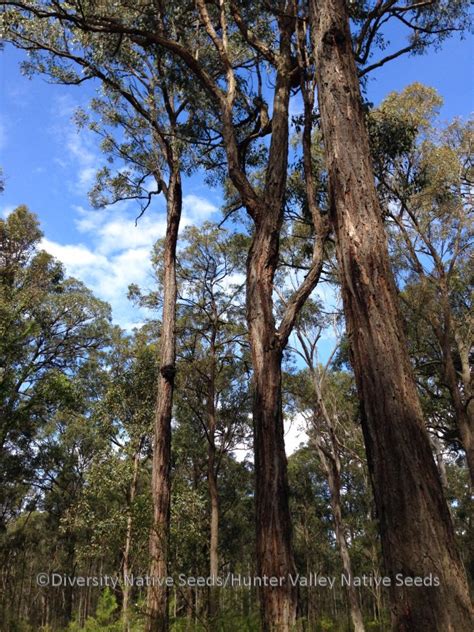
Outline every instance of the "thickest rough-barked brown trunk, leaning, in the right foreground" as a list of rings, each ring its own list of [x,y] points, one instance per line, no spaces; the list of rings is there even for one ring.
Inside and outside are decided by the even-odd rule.
[[[400,327],[344,0],[311,0],[318,99],[352,363],[393,629],[471,629],[464,568]],[[439,586],[398,585],[397,575]]]

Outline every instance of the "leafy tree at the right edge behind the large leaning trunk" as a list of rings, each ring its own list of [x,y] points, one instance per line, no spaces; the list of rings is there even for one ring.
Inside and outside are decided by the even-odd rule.
[[[469,256],[472,249],[472,121],[437,125],[441,97],[421,84],[390,94],[374,117],[398,117],[415,130],[413,142],[398,158],[380,165],[383,196],[393,256],[400,278],[404,312],[418,318],[426,335],[420,350],[433,339],[439,353],[420,358],[437,367],[440,388],[446,388],[455,412],[458,434],[474,480],[472,385],[469,349]],[[413,323],[414,324],[414,323]],[[416,331],[417,326],[411,329]],[[432,332],[431,337],[428,332]],[[416,361],[416,341],[412,339]],[[438,356],[439,361],[436,362]],[[429,375],[429,373],[428,373]],[[426,383],[426,382],[425,382]]]

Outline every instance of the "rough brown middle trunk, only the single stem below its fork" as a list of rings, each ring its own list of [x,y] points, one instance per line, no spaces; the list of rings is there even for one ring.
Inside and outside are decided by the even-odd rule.
[[[257,225],[247,263],[247,321],[254,371],[254,450],[257,512],[257,574],[282,584],[262,586],[262,630],[288,632],[296,621],[297,592],[289,581],[291,546],[282,397],[282,351],[275,335],[273,275],[278,230]]]

